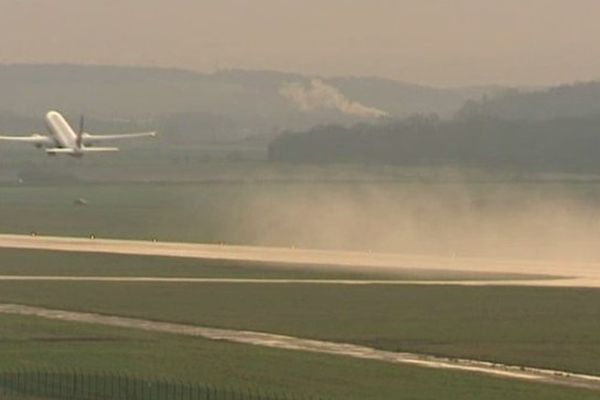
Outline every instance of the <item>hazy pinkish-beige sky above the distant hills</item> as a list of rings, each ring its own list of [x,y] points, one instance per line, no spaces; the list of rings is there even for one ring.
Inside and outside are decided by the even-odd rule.
[[[0,0],[0,62],[600,79],[599,0]]]

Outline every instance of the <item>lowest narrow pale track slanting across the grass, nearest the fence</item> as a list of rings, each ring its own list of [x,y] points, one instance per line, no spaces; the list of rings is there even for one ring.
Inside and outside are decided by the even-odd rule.
[[[50,310],[16,304],[0,304],[0,314],[26,315],[51,320],[141,329],[151,332],[173,333],[178,335],[202,337],[210,340],[224,340],[228,342],[278,349],[333,354],[392,364],[414,365],[425,368],[460,370],[506,379],[518,379],[600,390],[600,377],[597,376],[571,374],[564,371],[523,368],[475,360],[449,359],[413,353],[396,353],[353,344],[301,339],[292,336],[275,335],[262,332],[205,328],[192,325],[147,321],[142,319],[106,316],[93,313]]]

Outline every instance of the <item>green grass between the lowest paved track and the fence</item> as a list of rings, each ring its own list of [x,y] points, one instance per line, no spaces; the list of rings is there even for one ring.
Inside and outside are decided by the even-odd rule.
[[[0,316],[0,369],[77,368],[324,399],[592,400],[597,392],[176,335]]]

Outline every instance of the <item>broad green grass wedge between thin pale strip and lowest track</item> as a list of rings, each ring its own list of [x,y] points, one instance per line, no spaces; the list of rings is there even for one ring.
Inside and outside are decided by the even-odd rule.
[[[2,282],[0,301],[600,374],[600,291]]]

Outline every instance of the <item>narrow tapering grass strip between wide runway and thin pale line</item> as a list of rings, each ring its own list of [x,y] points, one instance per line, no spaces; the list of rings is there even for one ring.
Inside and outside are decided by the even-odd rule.
[[[504,280],[543,276],[397,268],[344,269],[177,257],[0,248],[0,275],[257,279]]]

